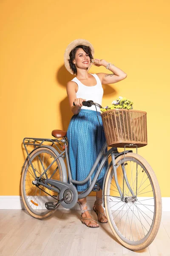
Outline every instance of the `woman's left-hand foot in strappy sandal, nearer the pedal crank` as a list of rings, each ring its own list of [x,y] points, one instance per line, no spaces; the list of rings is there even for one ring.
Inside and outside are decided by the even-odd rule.
[[[80,204],[79,201],[77,203],[79,204],[80,209],[82,210],[82,215],[81,215],[82,223],[85,224],[87,227],[99,227],[97,222],[92,218],[92,216],[88,212],[87,203]]]

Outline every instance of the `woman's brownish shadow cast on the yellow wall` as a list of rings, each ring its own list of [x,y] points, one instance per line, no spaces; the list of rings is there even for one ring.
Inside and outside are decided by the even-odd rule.
[[[60,117],[62,120],[62,130],[67,131],[68,125],[70,122],[71,117],[73,116],[73,113],[71,112],[70,105],[68,102],[67,92],[66,92],[66,84],[68,81],[71,81],[75,76],[71,75],[63,65],[56,74],[56,81],[57,85],[60,84],[62,87],[65,88],[65,98],[60,102]],[[107,98],[108,95],[116,95],[116,90],[113,88],[112,85],[109,84],[103,84],[103,98]],[[58,128],[57,128],[58,129]]]

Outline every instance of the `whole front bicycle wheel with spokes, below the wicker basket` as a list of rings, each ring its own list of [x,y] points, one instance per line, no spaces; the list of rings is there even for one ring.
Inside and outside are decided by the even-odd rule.
[[[134,251],[142,250],[149,246],[159,230],[159,183],[149,163],[138,154],[125,154],[125,163],[124,155],[117,157],[115,161],[122,196],[117,189],[111,164],[104,188],[108,222],[123,246]]]

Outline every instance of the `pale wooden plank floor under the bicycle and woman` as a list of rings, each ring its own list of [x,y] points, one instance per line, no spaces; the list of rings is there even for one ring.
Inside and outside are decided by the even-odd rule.
[[[0,210],[0,255],[170,256],[170,212],[162,213],[153,243],[133,252],[114,239],[109,224],[94,229],[82,224],[79,210],[57,210],[45,220],[32,218],[25,210]]]

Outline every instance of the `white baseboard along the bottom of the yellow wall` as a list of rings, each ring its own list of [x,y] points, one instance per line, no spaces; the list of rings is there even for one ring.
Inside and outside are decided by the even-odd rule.
[[[92,210],[94,205],[95,196],[87,197],[87,205],[88,209]],[[51,201],[51,200],[50,200]],[[0,209],[25,209],[23,205],[23,201],[20,195],[0,195]],[[59,205],[57,209],[65,209],[62,205]],[[76,204],[73,210],[79,210],[79,205]],[[162,198],[162,211],[170,212],[170,197]]]

